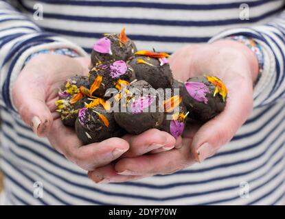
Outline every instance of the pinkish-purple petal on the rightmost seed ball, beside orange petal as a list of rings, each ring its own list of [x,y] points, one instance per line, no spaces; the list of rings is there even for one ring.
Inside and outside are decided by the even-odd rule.
[[[209,88],[205,86],[204,83],[189,81],[185,82],[185,88],[196,101],[208,103],[208,99],[206,98],[206,94],[209,92]]]

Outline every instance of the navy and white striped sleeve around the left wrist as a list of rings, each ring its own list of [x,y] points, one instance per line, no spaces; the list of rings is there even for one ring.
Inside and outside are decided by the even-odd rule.
[[[43,31],[9,3],[0,0],[0,105],[15,111],[11,88],[27,57],[38,51],[62,48],[87,55],[78,45]]]

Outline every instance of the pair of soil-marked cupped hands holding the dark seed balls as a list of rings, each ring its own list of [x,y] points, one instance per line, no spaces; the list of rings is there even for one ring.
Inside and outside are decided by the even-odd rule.
[[[253,83],[258,75],[255,54],[233,40],[187,45],[173,53],[169,62],[175,79],[214,75],[228,88],[225,110],[204,125],[187,126],[182,138],[150,129],[137,136],[127,134],[83,145],[73,129],[62,125],[54,103],[58,88],[68,77],[88,74],[88,57],[33,57],[14,82],[12,98],[21,118],[36,135],[47,137],[54,149],[88,170],[95,183],[167,175],[203,162],[231,140],[251,114]]]

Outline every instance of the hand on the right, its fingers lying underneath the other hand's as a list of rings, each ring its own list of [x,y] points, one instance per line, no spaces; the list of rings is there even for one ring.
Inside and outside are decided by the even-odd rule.
[[[119,159],[115,164],[89,172],[93,181],[132,181],[170,174],[195,161],[202,162],[229,142],[251,114],[258,61],[240,42],[219,40],[183,47],[170,57],[170,66],[174,78],[181,81],[205,74],[220,78],[229,91],[225,110],[204,125],[187,127],[180,146],[163,153]]]

